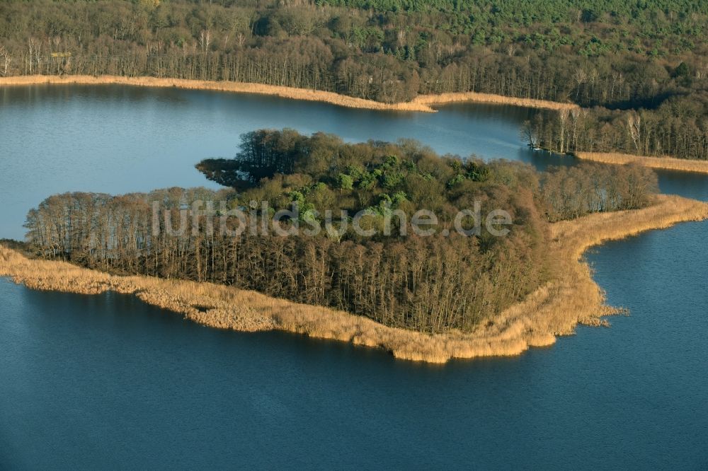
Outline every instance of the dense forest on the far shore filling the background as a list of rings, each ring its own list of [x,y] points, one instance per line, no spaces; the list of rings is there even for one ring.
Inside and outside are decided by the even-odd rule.
[[[572,101],[587,132],[551,117],[549,148],[705,159],[707,26],[705,0],[9,0],[0,74]]]

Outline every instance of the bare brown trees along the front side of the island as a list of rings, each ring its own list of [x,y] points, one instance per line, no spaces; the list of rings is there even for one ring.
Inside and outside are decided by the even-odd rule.
[[[86,267],[229,284],[421,332],[470,330],[539,283],[539,260],[521,241],[483,253],[457,235],[356,243],[223,236],[206,233],[205,223],[196,234],[163,226],[155,237],[151,203],[161,193],[52,197],[28,216],[28,240],[38,255]],[[190,196],[183,192],[183,204]],[[171,211],[178,226],[179,206]]]

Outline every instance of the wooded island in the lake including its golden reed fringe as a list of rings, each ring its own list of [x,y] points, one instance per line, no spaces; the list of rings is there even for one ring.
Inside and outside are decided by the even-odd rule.
[[[234,158],[197,168],[224,189],[45,199],[26,243],[1,248],[0,274],[136,293],[213,327],[447,361],[518,354],[597,325],[614,310],[579,260],[585,248],[708,216],[704,203],[656,194],[640,166],[538,173],[411,140],[262,129],[241,136]]]

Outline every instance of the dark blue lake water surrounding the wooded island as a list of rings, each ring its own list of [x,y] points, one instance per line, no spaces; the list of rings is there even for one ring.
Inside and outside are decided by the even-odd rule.
[[[0,89],[0,238],[56,192],[212,186],[194,170],[261,127],[413,138],[544,168],[532,112],[348,110],[122,86]],[[708,178],[661,173],[708,199]],[[0,468],[705,468],[708,223],[588,253],[629,317],[513,358],[430,366],[280,332],[200,327],[132,296],[0,279]]]

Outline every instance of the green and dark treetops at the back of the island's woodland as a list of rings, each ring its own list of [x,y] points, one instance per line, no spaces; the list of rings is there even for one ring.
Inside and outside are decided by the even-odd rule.
[[[326,156],[322,167],[329,170],[323,173],[305,165],[312,155]],[[425,208],[442,211],[440,219],[450,222],[462,182],[476,185],[465,187],[466,197],[481,196],[500,184],[537,185],[532,179],[518,178],[522,172],[518,164],[440,158],[414,141],[346,144],[335,136],[301,136],[290,129],[246,133],[234,159],[208,159],[198,168],[212,180],[236,182],[230,186],[241,191],[241,200],[265,200],[276,211],[292,202],[301,209],[312,205],[320,213],[370,209],[384,215],[404,209],[412,216]],[[253,183],[244,185],[244,181]]]

